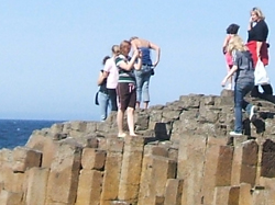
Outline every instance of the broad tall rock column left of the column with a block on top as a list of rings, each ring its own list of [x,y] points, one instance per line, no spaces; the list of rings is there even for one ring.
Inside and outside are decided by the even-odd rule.
[[[74,141],[59,144],[51,166],[46,204],[74,205],[82,148]]]

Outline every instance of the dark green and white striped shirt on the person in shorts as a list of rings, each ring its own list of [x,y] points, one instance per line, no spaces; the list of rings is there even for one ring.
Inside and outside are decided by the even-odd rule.
[[[129,82],[129,83],[135,83],[135,77],[133,73],[134,68],[132,68],[131,70],[124,70],[123,68],[120,67],[121,62],[127,62],[129,64],[129,61],[131,60],[131,57],[128,56],[123,56],[123,55],[119,55],[116,58],[116,66],[119,69],[119,82]]]

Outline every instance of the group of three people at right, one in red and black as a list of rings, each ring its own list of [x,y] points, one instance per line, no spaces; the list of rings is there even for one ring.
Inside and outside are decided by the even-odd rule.
[[[244,100],[244,96],[251,92],[252,96],[273,95],[273,89],[270,83],[261,84],[263,93],[260,93],[258,86],[254,82],[254,70],[257,61],[261,60],[264,66],[268,65],[267,36],[268,26],[265,16],[258,8],[253,8],[250,12],[251,18],[248,27],[248,42],[243,43],[238,35],[239,25],[231,24],[227,29],[227,36],[223,43],[223,54],[226,55],[228,75],[221,82],[224,87],[229,81],[228,88],[232,88],[232,77],[234,76],[234,130],[231,136],[242,135],[242,109],[246,111],[252,121],[255,116],[255,107]]]

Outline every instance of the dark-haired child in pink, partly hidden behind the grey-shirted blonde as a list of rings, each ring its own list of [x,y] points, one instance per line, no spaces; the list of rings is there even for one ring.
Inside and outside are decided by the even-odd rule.
[[[227,29],[227,36],[226,36],[223,45],[222,45],[222,52],[223,52],[223,54],[226,56],[226,62],[227,62],[227,70],[228,70],[228,72],[232,68],[233,61],[232,61],[232,56],[227,52],[227,48],[228,48],[228,44],[229,44],[229,41],[231,39],[231,37],[238,34],[239,27],[240,26],[237,25],[237,24],[234,24],[234,23],[232,23],[232,24],[230,24],[228,26],[228,29]],[[227,89],[228,90],[232,90],[232,77],[229,78],[229,83],[228,83]]]

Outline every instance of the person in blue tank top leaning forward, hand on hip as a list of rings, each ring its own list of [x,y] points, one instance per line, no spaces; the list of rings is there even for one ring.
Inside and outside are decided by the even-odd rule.
[[[154,73],[154,68],[160,61],[161,48],[152,42],[139,38],[136,36],[131,37],[130,42],[133,50],[140,49],[142,52],[142,68],[134,71],[136,78],[136,109],[140,109],[142,99],[144,102],[144,109],[147,109],[150,102],[150,78]],[[154,62],[151,59],[151,49],[156,52],[156,59]]]

